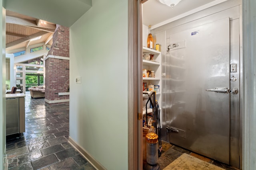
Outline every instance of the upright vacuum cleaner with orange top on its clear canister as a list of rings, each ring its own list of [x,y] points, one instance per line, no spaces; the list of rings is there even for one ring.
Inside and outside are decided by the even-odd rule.
[[[148,94],[148,93],[143,93]],[[160,108],[156,101],[156,92],[148,94],[148,101],[146,102],[146,126],[148,127],[148,111],[147,105],[150,102],[152,107],[152,126],[146,135],[146,160],[144,170],[160,170],[158,158],[162,153],[162,140],[161,140],[161,124],[160,124]]]

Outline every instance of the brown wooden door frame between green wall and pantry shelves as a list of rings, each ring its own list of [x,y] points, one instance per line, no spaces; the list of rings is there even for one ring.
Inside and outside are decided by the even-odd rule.
[[[128,1],[128,169],[142,170],[142,1]],[[141,126],[140,126],[141,125]]]

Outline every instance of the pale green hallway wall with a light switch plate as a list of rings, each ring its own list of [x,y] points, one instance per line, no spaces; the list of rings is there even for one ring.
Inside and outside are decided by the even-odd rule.
[[[93,0],[70,27],[70,137],[106,169],[128,169],[128,0]]]

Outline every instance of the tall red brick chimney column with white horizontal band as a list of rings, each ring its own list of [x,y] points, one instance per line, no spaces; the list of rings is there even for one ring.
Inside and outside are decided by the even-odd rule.
[[[59,59],[62,57],[69,58],[69,28],[57,25],[48,59],[45,60],[46,101],[69,99],[69,95],[58,95],[60,92],[67,92],[69,88],[69,60]]]

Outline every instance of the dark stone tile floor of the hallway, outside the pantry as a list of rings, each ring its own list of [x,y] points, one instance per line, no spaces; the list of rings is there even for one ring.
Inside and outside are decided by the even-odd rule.
[[[95,170],[68,143],[69,104],[47,106],[26,93],[25,128],[6,137],[8,170]]]

